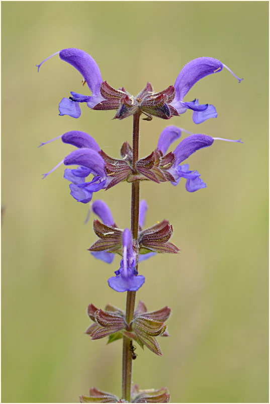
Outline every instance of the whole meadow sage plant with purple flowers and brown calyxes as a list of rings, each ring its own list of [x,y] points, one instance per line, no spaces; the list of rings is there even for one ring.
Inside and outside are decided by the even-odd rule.
[[[102,189],[108,190],[122,181],[131,183],[132,189],[131,226],[124,230],[116,225],[104,201],[100,199],[94,201],[92,210],[100,219],[94,221],[94,231],[98,240],[89,247],[95,258],[106,263],[111,264],[115,254],[122,257],[120,268],[109,277],[108,283],[117,292],[127,292],[126,309],[122,311],[115,306],[107,305],[103,310],[90,304],[88,316],[93,324],[86,331],[92,340],[105,337],[109,338],[109,342],[123,340],[122,396],[119,398],[94,387],[90,389],[88,396],[81,395],[80,401],[168,402],[169,394],[166,388],[140,390],[136,384],[131,386],[132,361],[137,356],[133,344],[147,347],[161,356],[156,337],[168,336],[164,322],[170,315],[168,307],[148,312],[142,301],[139,301],[135,308],[136,291],[145,281],[144,275],[139,274],[138,263],[157,253],[175,254],[179,251],[170,242],[172,226],[167,220],[161,220],[144,229],[148,207],[145,200],[140,201],[140,181],[154,181],[157,184],[169,181],[172,185],[177,185],[181,178],[185,178],[187,191],[194,192],[205,188],[206,184],[199,172],[191,170],[187,164],[188,157],[199,149],[212,146],[216,140],[240,143],[241,140],[216,138],[202,133],[193,134],[176,126],[168,126],[161,132],[154,150],[150,150],[148,156],[139,159],[139,122],[141,117],[147,121],[151,121],[153,117],[171,119],[184,114],[187,110],[193,111],[195,124],[216,118],[217,112],[213,105],[199,104],[198,99],[186,101],[184,98],[198,80],[209,74],[219,73],[224,67],[233,76],[235,74],[217,59],[199,57],[189,62],[179,72],[174,85],[155,92],[152,85],[147,82],[146,86],[133,96],[124,87],[115,89],[104,81],[96,61],[86,52],[69,48],[50,57],[54,55],[59,55],[60,59],[75,67],[82,75],[83,84],[86,83],[92,92],[92,95],[82,95],[71,91],[69,98],[61,100],[59,115],[79,118],[80,105],[85,103],[93,110],[116,110],[114,119],[133,117],[132,146],[125,141],[120,149],[120,158],[107,155],[97,141],[85,132],[71,131],[55,138],[61,138],[63,143],[75,147],[75,150],[55,168],[62,163],[66,166],[76,166],[66,168],[64,178],[70,182],[70,194],[77,201],[87,204],[92,200],[94,193]],[[38,70],[42,63],[37,66]],[[178,142],[183,132],[189,136]],[[176,141],[178,144],[174,150],[168,152],[171,144]],[[41,143],[40,146],[49,142],[51,140]],[[44,174],[44,177],[55,168]]]

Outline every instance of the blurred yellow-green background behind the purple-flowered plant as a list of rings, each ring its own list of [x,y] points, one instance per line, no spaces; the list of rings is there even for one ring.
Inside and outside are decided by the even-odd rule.
[[[187,111],[141,121],[141,157],[169,124],[244,143],[217,141],[190,157],[205,189],[141,185],[146,225],[168,219],[181,252],[140,265],[137,298],[150,311],[172,309],[171,336],[159,338],[163,357],[138,347],[133,381],[167,386],[171,402],[268,401],[267,2],[2,3],[2,401],[77,402],[91,386],[121,395],[121,341],[83,334],[90,302],[125,306],[107,284],[120,259],[110,266],[86,251],[94,216],[84,225],[88,206],[69,195],[64,167],[42,180],[73,148],[37,146],[77,129],[118,157],[132,118],[112,121],[114,111],[85,105],[78,120],[58,116],[61,98],[82,91],[81,76],[58,56],[39,74],[35,64],[68,47],[91,54],[104,80],[134,95],[147,81],[156,91],[173,84],[199,56],[244,77],[238,84],[224,69],[189,92],[186,100],[214,104],[217,119],[196,126]],[[94,194],[122,228],[130,188]]]

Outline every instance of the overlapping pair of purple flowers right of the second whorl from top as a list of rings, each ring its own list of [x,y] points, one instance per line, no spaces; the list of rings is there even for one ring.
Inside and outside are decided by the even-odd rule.
[[[157,143],[157,148],[162,152],[162,154],[166,154],[171,143],[181,137],[182,131],[187,132],[182,128],[177,128],[176,126],[168,126],[161,132]],[[181,178],[186,178],[186,189],[189,192],[194,192],[198,189],[206,187],[206,184],[200,178],[198,171],[191,171],[189,169],[189,164],[181,163],[197,150],[211,146],[214,143],[214,140],[243,143],[241,142],[241,139],[229,140],[223,138],[213,138],[203,134],[191,134],[187,138],[183,139],[172,152],[174,155],[174,162],[167,171],[174,178],[174,181],[171,181],[173,185],[177,185]]]

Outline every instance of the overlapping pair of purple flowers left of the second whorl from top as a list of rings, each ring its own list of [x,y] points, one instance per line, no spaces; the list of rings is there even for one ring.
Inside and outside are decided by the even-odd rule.
[[[78,165],[75,169],[66,168],[64,178],[71,182],[69,185],[70,194],[78,202],[87,204],[93,196],[93,192],[100,189],[106,189],[111,177],[108,177],[105,171],[105,161],[100,155],[100,147],[96,140],[85,132],[70,131],[58,136],[48,142],[41,143],[43,146],[56,139],[62,139],[62,142],[77,147],[77,150],[68,154],[56,167],[47,172],[44,178],[54,171],[59,165]],[[86,181],[86,177],[92,174],[94,177],[91,181]]]

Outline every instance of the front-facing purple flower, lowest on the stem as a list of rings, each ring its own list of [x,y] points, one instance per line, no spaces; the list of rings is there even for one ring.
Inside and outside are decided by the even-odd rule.
[[[116,276],[108,279],[109,286],[117,292],[138,290],[144,283],[144,276],[138,275],[137,254],[133,250],[133,240],[129,229],[125,229],[122,237],[123,259],[120,268],[115,271]]]

